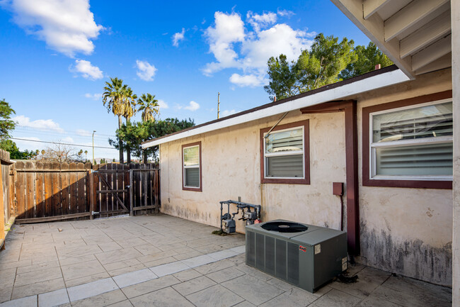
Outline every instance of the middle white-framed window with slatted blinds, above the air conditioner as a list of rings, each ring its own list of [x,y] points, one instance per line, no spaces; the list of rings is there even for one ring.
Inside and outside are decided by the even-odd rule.
[[[305,178],[304,126],[264,133],[265,178]]]

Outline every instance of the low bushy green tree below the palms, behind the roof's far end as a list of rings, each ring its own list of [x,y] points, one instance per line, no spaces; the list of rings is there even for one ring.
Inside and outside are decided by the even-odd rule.
[[[122,125],[122,128],[117,130],[116,135],[117,138],[130,145],[134,157],[139,157],[144,160],[144,163],[147,163],[148,157],[156,159],[158,156],[158,146],[143,150],[143,142],[184,130],[194,125],[195,122],[190,118],[182,121],[179,121],[178,118],[166,118],[164,121],[143,121]],[[109,139],[108,141],[110,145],[117,148],[118,144],[115,140]]]

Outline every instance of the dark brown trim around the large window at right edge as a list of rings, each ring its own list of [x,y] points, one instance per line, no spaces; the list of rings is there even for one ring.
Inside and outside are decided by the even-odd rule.
[[[369,114],[377,111],[413,106],[425,102],[437,101],[452,98],[452,90],[441,91],[435,94],[393,101],[378,106],[362,108],[362,185],[363,186],[389,186],[398,188],[420,188],[420,189],[452,189],[452,181],[447,180],[384,180],[369,178]]]

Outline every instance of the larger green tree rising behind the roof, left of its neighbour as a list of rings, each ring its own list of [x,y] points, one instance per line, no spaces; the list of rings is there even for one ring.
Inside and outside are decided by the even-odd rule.
[[[311,50],[303,50],[297,61],[287,62],[285,55],[270,57],[268,77],[270,83],[264,86],[270,99],[284,99],[337,82],[338,75],[350,62],[356,60],[353,40],[339,43],[333,35],[316,35]]]

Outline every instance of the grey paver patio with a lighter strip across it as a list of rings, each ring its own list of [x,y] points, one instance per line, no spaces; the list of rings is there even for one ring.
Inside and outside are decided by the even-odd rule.
[[[355,265],[311,294],[245,264],[244,236],[163,214],[16,225],[0,306],[451,306],[452,290]]]

